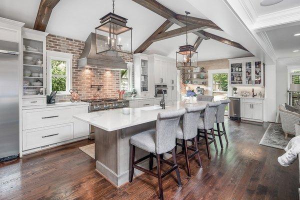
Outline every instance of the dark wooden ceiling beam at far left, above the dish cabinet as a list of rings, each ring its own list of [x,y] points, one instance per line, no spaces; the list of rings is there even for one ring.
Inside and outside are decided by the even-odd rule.
[[[59,0],[40,0],[38,11],[36,14],[33,29],[45,31],[52,9],[59,2]]]

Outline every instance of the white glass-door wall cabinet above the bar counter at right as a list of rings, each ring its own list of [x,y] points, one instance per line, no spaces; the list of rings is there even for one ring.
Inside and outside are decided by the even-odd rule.
[[[229,59],[229,84],[263,86],[264,64],[255,57]]]

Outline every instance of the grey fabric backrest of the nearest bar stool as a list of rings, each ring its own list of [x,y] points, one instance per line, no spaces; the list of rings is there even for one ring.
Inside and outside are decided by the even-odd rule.
[[[165,153],[175,147],[176,130],[185,109],[159,112],[156,120],[155,151]]]

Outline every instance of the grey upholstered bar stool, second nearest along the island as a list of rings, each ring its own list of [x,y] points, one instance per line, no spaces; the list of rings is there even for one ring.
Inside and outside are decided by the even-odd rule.
[[[189,167],[189,159],[193,156],[197,155],[199,160],[199,166],[202,167],[200,153],[198,149],[198,139],[197,139],[197,127],[198,124],[195,123],[195,119],[199,118],[201,110],[203,110],[203,106],[191,106],[185,108],[185,113],[183,115],[183,121],[182,123],[179,123],[177,132],[176,132],[176,139],[182,139],[182,144],[177,143],[176,145],[182,146],[184,151],[184,156],[181,154],[176,154],[180,157],[185,157],[186,167],[187,167],[187,174],[189,177],[191,177],[190,174],[190,167]],[[195,148],[191,148],[187,146],[186,141],[192,141]],[[192,150],[194,151],[192,154],[188,155],[188,151]]]

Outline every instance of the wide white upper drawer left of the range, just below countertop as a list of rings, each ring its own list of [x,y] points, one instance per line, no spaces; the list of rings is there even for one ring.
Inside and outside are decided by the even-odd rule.
[[[72,122],[72,107],[23,110],[23,130]]]

